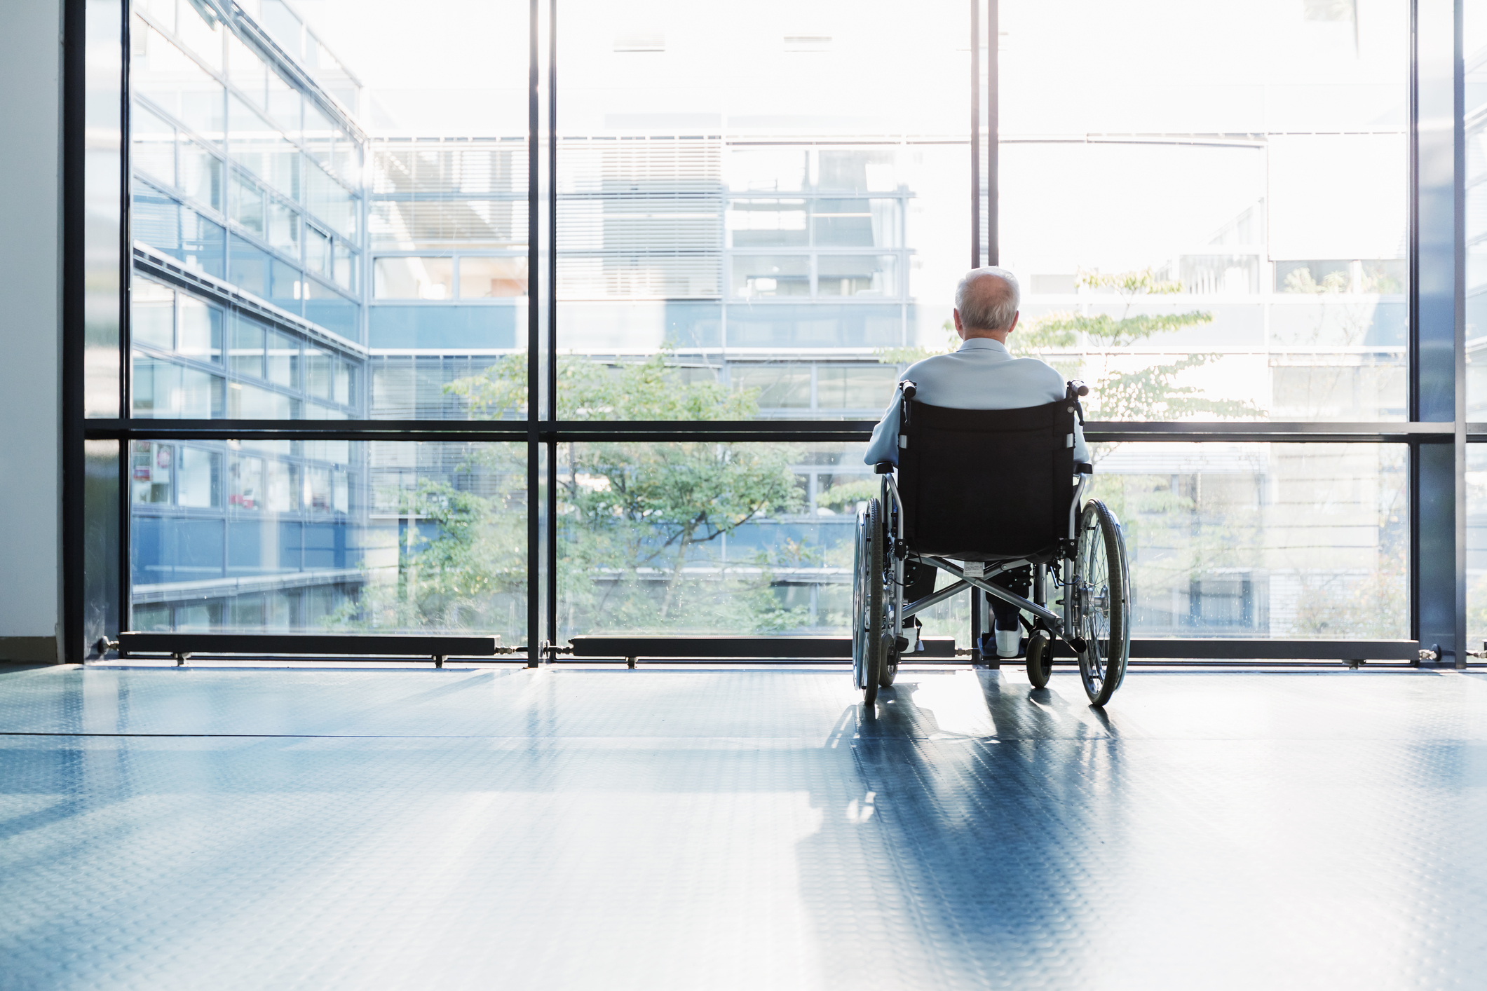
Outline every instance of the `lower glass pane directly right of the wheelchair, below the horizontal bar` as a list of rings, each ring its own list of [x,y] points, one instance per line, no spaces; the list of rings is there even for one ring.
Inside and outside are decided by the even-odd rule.
[[[1096,444],[1138,637],[1404,639],[1404,444]]]

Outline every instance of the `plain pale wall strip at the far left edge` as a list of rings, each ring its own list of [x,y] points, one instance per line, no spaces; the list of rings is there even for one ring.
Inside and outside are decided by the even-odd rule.
[[[61,0],[0,3],[0,660],[61,620]]]

